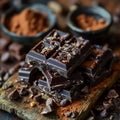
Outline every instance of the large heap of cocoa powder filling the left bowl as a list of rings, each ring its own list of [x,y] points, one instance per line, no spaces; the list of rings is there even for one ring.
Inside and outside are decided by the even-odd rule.
[[[23,36],[34,36],[39,32],[47,31],[49,26],[46,14],[28,8],[10,16],[5,24],[8,30]]]

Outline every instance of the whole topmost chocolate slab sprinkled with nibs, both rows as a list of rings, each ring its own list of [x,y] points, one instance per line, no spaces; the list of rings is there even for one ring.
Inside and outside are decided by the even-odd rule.
[[[34,61],[37,66],[48,67],[68,78],[90,52],[88,40],[53,30],[26,55],[26,62]]]

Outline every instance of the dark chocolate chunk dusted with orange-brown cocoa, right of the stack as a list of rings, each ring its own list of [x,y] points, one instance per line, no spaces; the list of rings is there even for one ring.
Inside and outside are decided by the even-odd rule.
[[[82,71],[86,80],[89,81],[89,84],[93,84],[98,79],[104,78],[110,72],[112,61],[111,49],[95,45],[92,53],[82,63],[79,69]]]

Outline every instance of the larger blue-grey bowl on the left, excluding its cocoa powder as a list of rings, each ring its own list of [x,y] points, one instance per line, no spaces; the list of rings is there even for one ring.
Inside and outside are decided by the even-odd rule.
[[[10,15],[12,14],[17,14],[20,13],[23,9],[25,8],[29,8],[32,10],[37,10],[40,11],[42,13],[47,14],[48,16],[48,21],[49,21],[49,28],[48,31],[46,32],[40,32],[38,34],[36,34],[35,36],[22,36],[22,35],[17,35],[13,32],[10,32],[5,24],[4,24],[4,20],[7,19]],[[4,13],[2,15],[2,23],[1,23],[1,28],[3,33],[5,33],[5,35],[7,35],[9,38],[11,38],[11,40],[27,45],[27,46],[33,46],[34,44],[36,44],[40,39],[42,39],[51,29],[54,28],[54,26],[56,25],[56,16],[53,14],[53,12],[45,5],[42,4],[35,4],[32,6],[18,6],[18,7],[12,7],[11,9],[9,9],[6,13]]]

